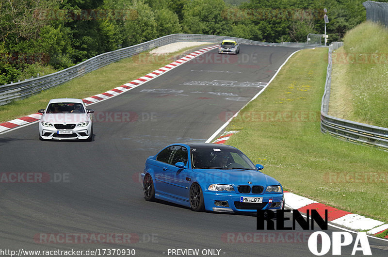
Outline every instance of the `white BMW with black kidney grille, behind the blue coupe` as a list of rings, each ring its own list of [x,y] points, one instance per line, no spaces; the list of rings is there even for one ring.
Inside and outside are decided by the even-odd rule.
[[[81,99],[51,99],[39,121],[40,140],[82,139],[92,141],[93,110],[86,109]]]

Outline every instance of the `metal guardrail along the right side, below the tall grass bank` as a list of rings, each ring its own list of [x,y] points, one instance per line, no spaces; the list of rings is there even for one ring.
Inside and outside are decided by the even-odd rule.
[[[388,151],[388,128],[344,120],[327,114],[331,86],[331,54],[333,50],[338,49],[342,45],[343,42],[334,42],[329,46],[329,64],[327,65],[325,90],[321,105],[321,131],[352,143],[375,146]]]

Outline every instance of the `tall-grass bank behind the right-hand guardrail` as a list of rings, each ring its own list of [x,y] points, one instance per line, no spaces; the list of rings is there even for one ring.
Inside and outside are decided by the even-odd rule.
[[[364,22],[343,41],[333,52],[329,114],[388,128],[388,29]]]

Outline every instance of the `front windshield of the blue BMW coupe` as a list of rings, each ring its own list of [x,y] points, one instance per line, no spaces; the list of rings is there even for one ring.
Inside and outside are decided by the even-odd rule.
[[[193,169],[256,170],[252,161],[237,149],[192,148],[190,152]]]

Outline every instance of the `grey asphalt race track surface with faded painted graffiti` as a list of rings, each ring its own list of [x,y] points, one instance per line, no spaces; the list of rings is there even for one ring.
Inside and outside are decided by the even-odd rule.
[[[149,155],[171,143],[205,142],[296,50],[242,46],[231,56],[214,49],[89,105],[95,111],[92,142],[39,141],[37,123],[1,134],[0,172],[6,177],[27,173],[23,176],[43,177],[44,183],[2,180],[0,249],[99,249],[99,256],[102,249],[135,249],[135,256],[172,256],[169,249],[199,249],[202,256],[203,250],[215,249],[206,253],[313,256],[303,237],[311,230],[258,231],[255,215],[146,202],[139,181]],[[333,231],[342,230],[329,226],[325,232]],[[373,256],[387,256],[386,241],[369,238],[369,243]],[[352,249],[353,243],[342,247],[342,255],[350,256]]]

